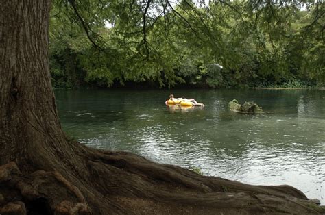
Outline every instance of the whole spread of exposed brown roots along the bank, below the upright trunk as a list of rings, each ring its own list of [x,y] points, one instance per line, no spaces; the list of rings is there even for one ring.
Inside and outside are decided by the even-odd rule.
[[[79,149],[85,168],[69,173],[1,166],[0,214],[325,213],[291,186],[250,186],[131,153]]]

